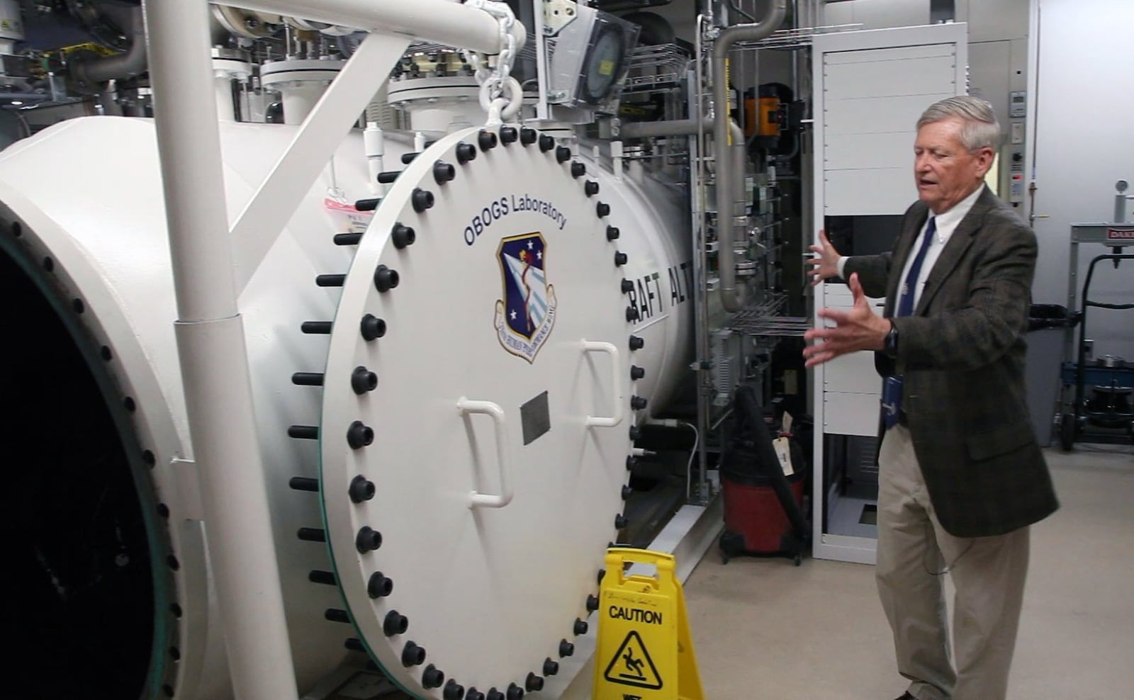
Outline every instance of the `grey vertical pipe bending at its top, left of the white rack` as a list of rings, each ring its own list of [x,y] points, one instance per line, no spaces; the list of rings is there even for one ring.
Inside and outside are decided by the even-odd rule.
[[[713,148],[717,153],[717,261],[720,267],[720,299],[726,310],[738,311],[744,307],[744,294],[736,287],[736,253],[734,246],[735,227],[746,222],[743,205],[738,202],[726,204],[736,189],[734,178],[743,181],[743,171],[730,168],[729,159],[722,157],[722,146],[729,143],[728,78],[726,60],[733,44],[739,41],[760,41],[775,32],[787,12],[787,0],[771,0],[764,17],[754,24],[738,24],[726,27],[713,41],[712,46],[712,96],[713,96]],[[734,144],[736,145],[736,144]],[[743,138],[741,139],[743,147]],[[743,162],[743,161],[742,161]],[[731,211],[728,211],[731,210]]]

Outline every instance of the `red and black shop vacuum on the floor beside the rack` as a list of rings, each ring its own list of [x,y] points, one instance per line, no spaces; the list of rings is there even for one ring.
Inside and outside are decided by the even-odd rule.
[[[736,430],[720,461],[725,563],[738,555],[787,556],[798,566],[811,539],[803,513],[806,468],[798,444],[792,444],[793,473],[785,475],[771,430],[751,386],[733,399]]]

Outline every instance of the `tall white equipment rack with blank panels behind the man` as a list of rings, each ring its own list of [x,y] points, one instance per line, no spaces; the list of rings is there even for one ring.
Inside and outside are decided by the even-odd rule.
[[[812,51],[814,221],[840,229],[840,251],[888,249],[892,239],[881,247],[866,239],[872,230],[896,230],[891,219],[900,219],[917,197],[917,118],[933,102],[967,92],[967,26],[818,35]],[[841,282],[815,288],[815,309],[852,304]],[[881,313],[881,299],[870,304]],[[822,323],[818,316],[816,323]],[[870,352],[840,357],[814,372],[813,553],[873,563],[881,378]]]

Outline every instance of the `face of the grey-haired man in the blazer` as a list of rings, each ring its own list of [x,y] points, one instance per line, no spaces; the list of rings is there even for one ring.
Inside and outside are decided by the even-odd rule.
[[[917,197],[940,214],[980,187],[992,165],[992,150],[968,151],[960,143],[960,118],[950,117],[917,129],[914,180]]]

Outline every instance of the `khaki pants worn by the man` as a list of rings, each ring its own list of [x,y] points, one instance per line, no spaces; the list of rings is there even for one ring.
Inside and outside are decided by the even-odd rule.
[[[1029,528],[959,538],[941,528],[909,430],[894,426],[879,455],[878,566],[898,672],[919,700],[1005,700],[1027,575]],[[956,587],[950,663],[945,581]]]

